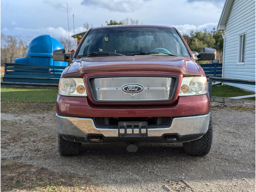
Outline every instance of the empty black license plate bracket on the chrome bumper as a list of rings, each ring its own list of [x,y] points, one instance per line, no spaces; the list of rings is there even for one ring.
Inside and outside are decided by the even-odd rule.
[[[118,122],[118,137],[147,137],[147,122]]]

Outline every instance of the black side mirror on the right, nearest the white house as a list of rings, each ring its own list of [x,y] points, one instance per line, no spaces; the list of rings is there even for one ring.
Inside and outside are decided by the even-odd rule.
[[[192,54],[196,61],[215,60],[217,57],[216,49],[208,47],[204,47],[202,52],[192,51]]]

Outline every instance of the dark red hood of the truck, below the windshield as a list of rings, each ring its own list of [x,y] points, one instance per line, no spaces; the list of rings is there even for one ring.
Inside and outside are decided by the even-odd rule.
[[[107,56],[84,57],[75,60],[65,69],[62,77],[83,77],[86,73],[118,71],[163,71],[183,75],[202,75],[199,65],[190,57],[175,56]]]

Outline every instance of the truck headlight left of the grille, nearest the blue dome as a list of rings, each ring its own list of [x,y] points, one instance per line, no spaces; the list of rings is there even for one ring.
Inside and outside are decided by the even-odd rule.
[[[87,97],[83,78],[60,78],[58,94],[74,97]]]

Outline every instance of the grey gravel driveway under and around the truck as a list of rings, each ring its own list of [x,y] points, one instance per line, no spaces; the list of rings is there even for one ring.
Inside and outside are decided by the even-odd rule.
[[[255,191],[255,108],[213,107],[203,157],[182,144],[84,144],[58,153],[54,111],[1,113],[1,191]]]

